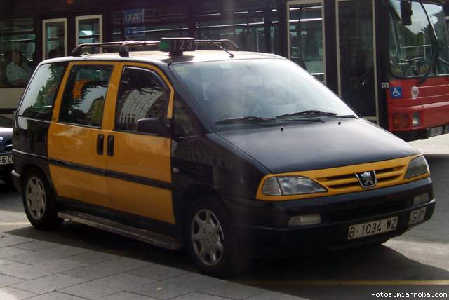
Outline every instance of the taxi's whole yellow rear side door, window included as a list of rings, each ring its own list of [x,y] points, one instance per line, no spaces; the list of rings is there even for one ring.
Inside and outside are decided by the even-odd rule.
[[[102,73],[96,69],[93,72],[93,68],[98,66],[102,66]],[[109,107],[115,102],[120,71],[119,62],[69,64],[48,130],[51,177],[59,196],[111,207],[105,177],[107,136],[100,125],[104,128],[105,123],[110,123],[107,116]],[[102,86],[102,81],[107,86]],[[93,83],[93,86],[88,87],[88,83]],[[70,89],[67,93],[66,86]],[[70,102],[73,104],[67,105]],[[71,118],[74,121],[70,121]],[[83,123],[88,118],[98,127]],[[103,154],[98,154],[99,135],[105,137]]]

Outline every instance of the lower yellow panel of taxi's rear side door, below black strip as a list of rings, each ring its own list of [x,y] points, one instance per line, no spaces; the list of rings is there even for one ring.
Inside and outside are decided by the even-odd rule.
[[[88,172],[50,165],[50,174],[58,196],[109,207],[105,177]],[[76,184],[73,179],[76,178]]]

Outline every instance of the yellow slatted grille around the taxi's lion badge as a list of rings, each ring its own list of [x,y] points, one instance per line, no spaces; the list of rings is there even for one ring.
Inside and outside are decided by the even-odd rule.
[[[382,186],[389,186],[401,181],[404,172],[406,171],[406,165],[397,165],[391,168],[375,169],[374,171],[376,172],[377,177],[376,187],[379,188]],[[330,191],[356,191],[361,189],[355,172],[342,175],[334,175],[330,177],[316,178],[316,180]]]

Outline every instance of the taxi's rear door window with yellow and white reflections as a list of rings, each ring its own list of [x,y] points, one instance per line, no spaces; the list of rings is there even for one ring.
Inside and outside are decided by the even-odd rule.
[[[113,66],[108,65],[72,67],[62,98],[59,120],[101,127],[112,69]]]

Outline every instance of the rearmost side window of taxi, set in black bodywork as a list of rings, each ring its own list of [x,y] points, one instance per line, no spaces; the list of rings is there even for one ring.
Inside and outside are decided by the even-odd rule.
[[[18,116],[50,121],[55,97],[66,69],[67,62],[42,64],[29,83]]]

